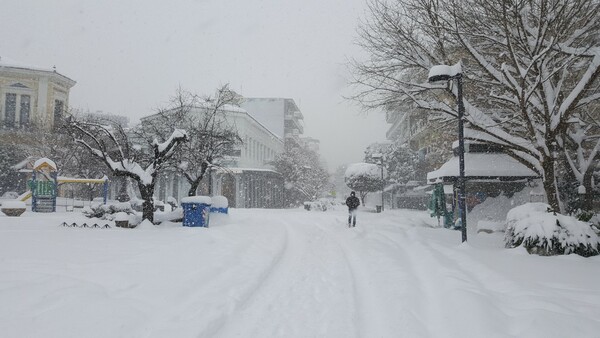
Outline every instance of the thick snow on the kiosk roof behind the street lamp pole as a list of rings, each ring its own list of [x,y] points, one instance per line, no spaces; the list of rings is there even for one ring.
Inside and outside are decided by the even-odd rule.
[[[427,181],[458,177],[458,156],[452,157],[438,170],[427,173]],[[466,177],[538,177],[533,170],[506,154],[466,153]]]

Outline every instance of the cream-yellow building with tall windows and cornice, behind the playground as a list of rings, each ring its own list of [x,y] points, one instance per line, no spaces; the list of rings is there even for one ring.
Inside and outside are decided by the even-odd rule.
[[[75,81],[0,56],[0,121],[4,128],[51,129],[65,113]]]

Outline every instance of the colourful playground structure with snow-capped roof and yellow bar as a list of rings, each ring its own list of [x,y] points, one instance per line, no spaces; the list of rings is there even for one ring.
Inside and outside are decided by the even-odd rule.
[[[19,196],[19,200],[31,198],[33,212],[56,212],[58,186],[65,183],[103,184],[103,200],[106,204],[108,177],[89,179],[57,176],[56,164],[48,158],[41,158],[34,163],[31,180],[28,182],[30,190]]]

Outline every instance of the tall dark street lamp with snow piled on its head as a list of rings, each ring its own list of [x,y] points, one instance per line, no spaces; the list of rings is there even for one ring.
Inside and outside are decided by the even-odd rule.
[[[429,70],[428,82],[456,80],[458,103],[458,211],[460,213],[460,224],[462,241],[467,241],[467,214],[465,208],[465,137],[463,127],[463,116],[465,106],[462,98],[462,67],[460,61],[452,66],[438,65]]]

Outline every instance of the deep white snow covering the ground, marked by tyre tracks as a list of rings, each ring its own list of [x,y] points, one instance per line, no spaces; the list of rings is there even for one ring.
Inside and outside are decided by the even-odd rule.
[[[359,209],[353,229],[344,210],[214,216],[0,215],[2,336],[598,336],[600,257],[529,255],[501,234],[461,244],[421,211]]]

